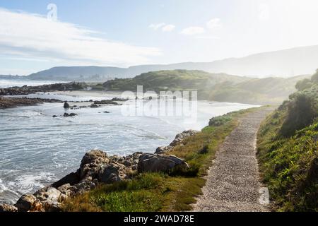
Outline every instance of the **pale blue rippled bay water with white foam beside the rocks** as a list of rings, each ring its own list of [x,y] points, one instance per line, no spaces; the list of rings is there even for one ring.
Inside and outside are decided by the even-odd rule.
[[[114,97],[113,93],[54,94],[46,95],[72,101]],[[191,125],[180,117],[124,117],[121,106],[111,105],[65,110],[63,103],[45,103],[0,110],[0,201],[13,203],[21,194],[75,171],[88,150],[105,150],[110,155],[153,153],[185,129],[201,129],[213,116],[249,107],[253,106],[198,102],[198,120]],[[101,113],[105,111],[110,114]],[[78,116],[52,118],[64,112]]]

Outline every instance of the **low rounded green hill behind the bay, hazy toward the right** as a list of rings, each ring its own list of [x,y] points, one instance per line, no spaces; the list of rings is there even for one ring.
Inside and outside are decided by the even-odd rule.
[[[156,71],[135,78],[115,79],[103,84],[106,90],[198,90],[199,100],[242,102],[249,104],[279,103],[295,92],[295,84],[306,76],[293,78],[247,78],[204,71]]]

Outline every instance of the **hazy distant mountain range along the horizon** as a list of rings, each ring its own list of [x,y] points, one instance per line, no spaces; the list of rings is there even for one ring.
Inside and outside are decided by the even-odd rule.
[[[268,76],[289,78],[300,74],[312,74],[317,68],[318,45],[315,45],[206,63],[156,64],[131,66],[129,68],[112,66],[60,66],[33,73],[28,78],[55,81],[107,81],[112,78],[133,78],[149,71],[175,69],[229,73],[254,78]]]

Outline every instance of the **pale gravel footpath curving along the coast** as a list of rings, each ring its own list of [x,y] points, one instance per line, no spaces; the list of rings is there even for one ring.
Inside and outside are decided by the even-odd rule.
[[[259,109],[240,119],[239,126],[220,145],[194,211],[269,211],[259,203],[261,184],[256,141],[261,121],[272,110]]]

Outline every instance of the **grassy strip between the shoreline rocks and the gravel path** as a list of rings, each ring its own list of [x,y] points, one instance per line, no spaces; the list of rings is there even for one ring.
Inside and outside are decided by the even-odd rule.
[[[189,162],[188,172],[136,174],[134,179],[99,186],[64,203],[65,211],[183,211],[191,210],[205,184],[202,177],[211,166],[218,145],[237,126],[237,119],[253,109],[233,112],[214,121],[196,136],[187,138],[170,154]]]

